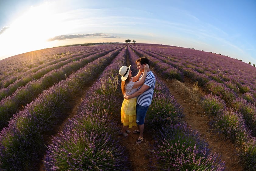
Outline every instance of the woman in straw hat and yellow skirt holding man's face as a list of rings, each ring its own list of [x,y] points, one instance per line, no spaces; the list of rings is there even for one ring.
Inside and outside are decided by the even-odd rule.
[[[119,69],[119,75],[121,75],[121,89],[123,95],[130,95],[137,91],[137,87],[141,86],[146,77],[147,77],[147,69],[149,69],[148,64],[144,64],[144,73],[140,81],[133,80],[132,71],[130,70],[130,67],[122,66]],[[137,75],[140,75],[141,72],[139,72]],[[137,76],[136,76],[137,78]],[[133,82],[137,81],[137,82]],[[124,99],[123,104],[121,107],[121,122],[123,123],[123,128],[121,130],[121,133],[123,136],[127,137],[129,136],[130,130],[129,128],[132,128],[132,126],[137,126],[136,123],[136,101],[137,98],[131,98],[131,99]]]

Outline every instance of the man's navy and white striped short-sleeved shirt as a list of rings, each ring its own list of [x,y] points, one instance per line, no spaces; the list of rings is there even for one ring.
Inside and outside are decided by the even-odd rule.
[[[140,81],[142,75],[143,74],[140,75],[139,81]],[[149,86],[149,88],[146,91],[144,91],[142,94],[137,96],[137,104],[139,104],[141,106],[149,106],[149,105],[151,105],[153,94],[154,94],[154,88],[156,85],[156,78],[155,78],[154,74],[152,73],[152,71],[147,72],[147,77],[146,77],[144,84]],[[140,88],[142,86],[143,85],[141,85],[137,89],[140,90]]]

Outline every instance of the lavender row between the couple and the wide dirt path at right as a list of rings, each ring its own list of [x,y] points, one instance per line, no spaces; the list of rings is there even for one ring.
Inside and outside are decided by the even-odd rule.
[[[129,48],[128,53],[131,63],[135,62],[138,56]],[[181,105],[164,83],[157,77],[156,80],[154,97],[146,116],[147,123],[157,133],[151,159],[157,159],[157,164],[151,166],[151,170],[224,170],[224,163],[218,155],[212,154],[200,134],[184,123]]]

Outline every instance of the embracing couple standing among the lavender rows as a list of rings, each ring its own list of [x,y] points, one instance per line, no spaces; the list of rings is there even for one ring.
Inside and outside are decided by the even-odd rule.
[[[122,76],[121,89],[124,95],[123,104],[121,107],[121,122],[123,128],[121,133],[123,136],[128,137],[131,132],[129,128],[132,126],[139,126],[138,130],[133,133],[140,134],[136,144],[143,141],[144,122],[147,109],[152,102],[155,76],[150,68],[149,60],[142,57],[136,60],[137,69],[139,72],[136,76],[132,76],[130,67],[122,66],[119,69],[119,74]]]

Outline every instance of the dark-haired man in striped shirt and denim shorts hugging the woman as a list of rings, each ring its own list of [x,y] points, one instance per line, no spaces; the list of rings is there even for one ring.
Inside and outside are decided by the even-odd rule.
[[[142,77],[142,72],[144,72],[144,65],[148,64],[150,67],[149,60],[146,57],[142,57],[136,60],[137,69],[139,69],[138,74],[133,77],[133,81],[140,80]],[[140,133],[136,144],[140,144],[143,141],[143,132],[144,132],[144,122],[147,113],[148,107],[151,105],[154,88],[156,84],[156,79],[151,69],[147,70],[147,77],[143,85],[138,87],[138,91],[135,93],[124,96],[126,99],[137,97],[137,105],[136,105],[136,123],[139,126],[139,130],[133,131],[133,133]]]

